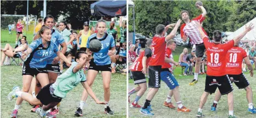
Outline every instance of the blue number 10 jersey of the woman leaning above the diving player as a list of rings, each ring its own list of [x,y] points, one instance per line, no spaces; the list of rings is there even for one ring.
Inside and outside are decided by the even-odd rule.
[[[30,66],[30,68],[44,68],[46,67],[48,58],[56,54],[58,51],[58,46],[51,42],[48,42],[48,47],[44,48],[42,44],[42,38],[33,41],[29,48],[32,49],[30,56],[25,61],[25,66]]]

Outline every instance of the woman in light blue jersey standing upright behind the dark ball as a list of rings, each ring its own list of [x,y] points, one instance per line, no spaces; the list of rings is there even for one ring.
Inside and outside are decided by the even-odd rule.
[[[97,33],[92,34],[87,41],[87,54],[90,52],[90,40],[100,40],[102,43],[102,48],[98,52],[93,53],[92,56],[88,56],[88,60],[90,61],[90,67],[87,72],[87,82],[88,85],[92,86],[94,79],[99,71],[101,71],[103,78],[103,88],[104,88],[104,100],[107,102],[105,105],[105,113],[106,114],[114,114],[112,110],[109,108],[109,100],[110,100],[110,78],[111,78],[111,61],[110,56],[115,54],[115,42],[112,35],[105,33],[106,30],[106,22],[104,20],[99,20],[97,22]],[[82,108],[84,107],[85,101],[88,97],[88,93],[84,90],[82,92],[82,97],[80,101],[80,107],[75,111],[76,116],[81,116]]]

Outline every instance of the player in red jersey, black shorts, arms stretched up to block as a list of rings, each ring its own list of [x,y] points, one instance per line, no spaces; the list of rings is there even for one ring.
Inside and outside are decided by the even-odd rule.
[[[157,93],[158,89],[160,88],[160,73],[162,70],[162,65],[164,64],[164,55],[166,50],[166,42],[168,42],[170,39],[174,38],[177,28],[180,26],[181,20],[179,19],[176,22],[175,27],[171,31],[171,33],[165,37],[165,33],[168,30],[171,24],[164,27],[164,25],[159,24],[156,28],[156,35],[153,37],[152,42],[152,57],[151,61],[149,61],[149,68],[148,68],[148,87],[151,87],[151,89],[148,92],[148,95],[146,97],[146,102],[144,103],[143,107],[140,109],[140,113],[144,115],[154,115],[150,112],[151,108],[150,102],[152,101],[153,97],[155,96],[155,93]]]

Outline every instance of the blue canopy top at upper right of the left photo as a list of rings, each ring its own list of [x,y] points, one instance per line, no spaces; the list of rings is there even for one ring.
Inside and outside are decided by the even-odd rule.
[[[91,4],[93,16],[126,16],[126,1],[97,1]]]

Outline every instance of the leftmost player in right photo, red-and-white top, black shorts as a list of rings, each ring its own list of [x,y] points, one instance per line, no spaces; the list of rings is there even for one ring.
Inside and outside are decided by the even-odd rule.
[[[132,88],[132,90],[129,91],[129,102],[130,102],[130,95],[133,93],[137,93],[135,101],[132,102],[131,108],[141,108],[140,105],[138,105],[138,100],[143,96],[144,92],[147,90],[147,81],[146,81],[146,72],[148,63],[152,56],[152,39],[148,39],[147,41],[147,48],[141,52],[140,57],[137,58],[135,62],[133,62],[131,67],[131,73],[133,76],[134,84],[138,85],[135,88]]]

